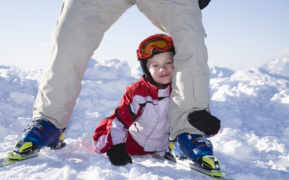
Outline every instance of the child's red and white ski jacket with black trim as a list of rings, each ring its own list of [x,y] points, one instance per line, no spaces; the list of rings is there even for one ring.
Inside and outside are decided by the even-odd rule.
[[[171,83],[160,88],[150,84],[145,76],[127,87],[120,105],[109,118],[106,147],[125,143],[129,131],[144,151],[167,150],[171,91]]]

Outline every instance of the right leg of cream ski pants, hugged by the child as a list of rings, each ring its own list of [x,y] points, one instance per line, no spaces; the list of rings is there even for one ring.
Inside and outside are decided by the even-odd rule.
[[[209,111],[209,67],[205,30],[197,0],[136,0],[139,10],[171,35],[176,54],[168,104],[170,139],[178,134],[204,134],[188,122],[188,114]]]

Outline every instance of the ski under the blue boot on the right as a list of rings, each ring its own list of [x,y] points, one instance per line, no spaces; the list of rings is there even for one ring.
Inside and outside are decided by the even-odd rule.
[[[194,163],[189,160],[179,160],[178,158],[174,158],[169,152],[166,152],[164,156],[159,156],[158,154],[153,154],[153,156],[157,159],[167,160],[170,164],[173,165],[181,165],[191,168],[194,170],[194,173],[200,173],[201,176],[206,175],[208,178],[218,179],[218,180],[236,180],[226,175],[224,170],[206,170],[198,166],[197,163]],[[215,176],[215,174],[220,174],[222,177]],[[215,176],[215,177],[214,177]],[[203,176],[204,177],[204,176]]]

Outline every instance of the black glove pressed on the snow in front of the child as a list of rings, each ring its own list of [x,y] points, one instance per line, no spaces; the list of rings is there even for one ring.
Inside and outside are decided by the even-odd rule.
[[[132,163],[131,157],[127,154],[126,144],[119,143],[108,149],[106,155],[115,166],[124,166]]]

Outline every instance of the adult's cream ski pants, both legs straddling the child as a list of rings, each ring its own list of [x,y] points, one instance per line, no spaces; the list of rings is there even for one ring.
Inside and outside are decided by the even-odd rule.
[[[67,126],[88,60],[104,32],[135,4],[175,44],[170,138],[182,132],[204,134],[187,120],[190,112],[209,111],[210,103],[208,52],[197,0],[65,0],[51,33],[49,65],[39,83],[33,119],[45,118],[57,128]]]

